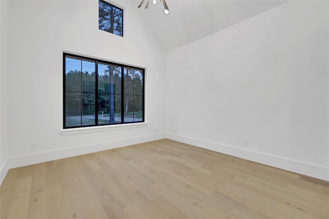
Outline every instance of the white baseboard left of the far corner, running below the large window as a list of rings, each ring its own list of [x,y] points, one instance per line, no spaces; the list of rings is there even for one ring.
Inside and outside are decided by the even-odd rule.
[[[7,159],[4,167],[1,169],[1,182],[3,182],[7,172],[11,168],[27,166],[31,164],[38,164],[42,162],[48,162],[58,160],[71,156],[78,156],[87,153],[93,153],[97,151],[109,150],[114,148],[120,148],[129,145],[140,144],[144,142],[151,142],[166,138],[166,133],[158,133],[152,135],[138,136],[132,138],[125,138],[122,140],[101,142],[92,145],[81,145],[72,148],[64,148],[59,150],[44,151],[40,153],[25,154],[21,156],[12,156]],[[1,185],[1,184],[0,184]]]

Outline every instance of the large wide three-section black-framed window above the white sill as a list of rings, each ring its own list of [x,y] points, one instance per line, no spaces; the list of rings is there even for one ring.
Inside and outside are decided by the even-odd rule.
[[[144,122],[144,69],[63,53],[63,128]]]

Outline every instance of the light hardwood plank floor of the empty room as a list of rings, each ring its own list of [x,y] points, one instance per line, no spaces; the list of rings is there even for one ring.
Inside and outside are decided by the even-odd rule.
[[[329,218],[326,181],[171,140],[9,170],[1,218]]]

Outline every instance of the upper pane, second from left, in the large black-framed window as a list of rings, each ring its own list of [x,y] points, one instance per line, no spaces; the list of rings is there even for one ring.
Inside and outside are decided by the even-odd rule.
[[[82,91],[95,92],[95,62],[82,61]]]

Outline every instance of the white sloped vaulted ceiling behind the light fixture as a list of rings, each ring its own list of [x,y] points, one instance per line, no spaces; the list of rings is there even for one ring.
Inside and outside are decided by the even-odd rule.
[[[146,2],[138,8],[139,13],[163,48],[171,51],[287,1],[166,0],[168,15],[159,0],[156,5],[151,1],[144,10]],[[136,8],[139,3],[133,1]]]

